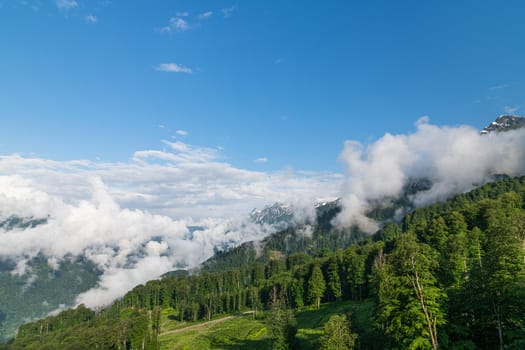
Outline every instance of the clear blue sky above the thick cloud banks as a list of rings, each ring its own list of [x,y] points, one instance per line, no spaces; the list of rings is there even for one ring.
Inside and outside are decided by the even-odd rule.
[[[178,140],[243,169],[341,171],[345,140],[423,115],[482,128],[523,114],[524,10],[0,0],[0,154],[119,162]]]

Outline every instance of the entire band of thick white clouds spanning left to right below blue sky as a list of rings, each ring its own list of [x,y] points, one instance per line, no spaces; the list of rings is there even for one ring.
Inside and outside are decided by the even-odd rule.
[[[335,223],[373,232],[379,224],[367,212],[400,196],[410,181],[432,183],[411,197],[422,206],[494,174],[525,174],[525,129],[482,136],[425,118],[411,134],[386,134],[367,146],[345,142],[344,174],[253,171],[224,162],[217,148],[163,145],[116,163],[0,156],[0,219],[48,218],[34,228],[0,232],[0,256],[17,262],[12,273],[30,274],[27,262],[38,254],[53,269],[82,256],[102,275],[77,302],[107,305],[137,284],[197,266],[216,247],[272,233],[246,220],[253,208],[289,203],[296,217],[311,218],[315,202],[340,197]]]

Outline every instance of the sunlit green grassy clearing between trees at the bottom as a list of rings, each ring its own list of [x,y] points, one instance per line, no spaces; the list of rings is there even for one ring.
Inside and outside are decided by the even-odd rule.
[[[323,326],[333,314],[351,312],[353,328],[359,330],[365,339],[373,334],[371,313],[373,304],[369,301],[343,301],[326,303],[319,310],[305,308],[296,313],[298,349],[315,349],[316,341],[323,333]],[[166,316],[166,315],[165,315]],[[174,329],[167,317],[163,317],[163,330]],[[176,321],[173,321],[176,323]],[[200,327],[191,326],[187,331],[180,329],[160,337],[161,349],[267,349],[266,325],[264,320],[256,320],[253,315],[227,318],[216,323],[201,323]],[[364,340],[364,339],[363,339]]]

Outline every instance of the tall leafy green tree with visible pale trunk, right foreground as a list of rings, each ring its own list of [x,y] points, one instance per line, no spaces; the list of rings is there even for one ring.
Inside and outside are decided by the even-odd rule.
[[[383,266],[378,321],[403,349],[439,348],[438,327],[445,324],[445,294],[432,274],[432,250],[414,234],[396,240]]]

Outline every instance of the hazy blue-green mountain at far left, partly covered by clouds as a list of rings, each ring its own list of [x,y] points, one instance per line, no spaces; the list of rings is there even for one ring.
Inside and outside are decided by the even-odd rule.
[[[47,223],[47,218],[10,216],[0,221],[0,235]],[[86,259],[68,257],[53,269],[39,254],[13,271],[17,261],[0,257],[0,342],[11,338],[18,326],[71,307],[78,294],[94,287],[100,271]]]

